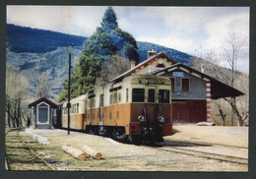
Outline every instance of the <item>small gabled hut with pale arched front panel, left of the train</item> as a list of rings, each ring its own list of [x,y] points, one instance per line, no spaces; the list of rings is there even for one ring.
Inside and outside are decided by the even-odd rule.
[[[42,96],[29,104],[32,108],[32,126],[35,129],[51,129],[52,110],[59,106]]]

